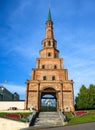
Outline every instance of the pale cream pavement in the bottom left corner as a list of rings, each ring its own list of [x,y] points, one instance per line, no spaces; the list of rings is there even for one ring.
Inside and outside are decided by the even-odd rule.
[[[0,118],[0,130],[20,130],[28,127],[28,123]]]

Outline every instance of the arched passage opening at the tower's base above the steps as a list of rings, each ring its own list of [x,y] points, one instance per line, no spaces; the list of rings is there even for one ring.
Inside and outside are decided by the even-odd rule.
[[[53,88],[45,88],[41,92],[41,111],[57,110],[57,93]]]

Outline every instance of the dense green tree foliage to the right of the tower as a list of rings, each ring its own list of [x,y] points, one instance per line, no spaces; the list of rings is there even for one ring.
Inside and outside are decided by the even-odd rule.
[[[90,84],[88,88],[85,85],[82,85],[75,102],[76,109],[94,109],[95,85]]]

